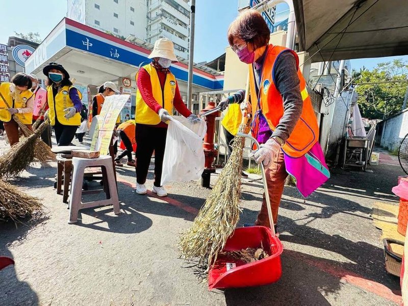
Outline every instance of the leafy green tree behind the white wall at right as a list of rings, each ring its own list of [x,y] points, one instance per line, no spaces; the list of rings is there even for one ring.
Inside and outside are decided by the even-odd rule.
[[[385,119],[400,112],[408,86],[407,62],[380,63],[371,71],[363,67],[352,75],[363,117]]]

